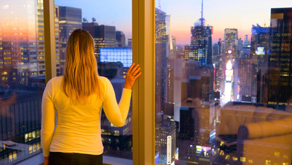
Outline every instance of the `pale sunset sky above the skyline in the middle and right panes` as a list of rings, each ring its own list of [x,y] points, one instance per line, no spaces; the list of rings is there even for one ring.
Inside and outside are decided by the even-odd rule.
[[[171,15],[171,35],[176,37],[177,43],[188,45],[191,41],[191,26],[201,17],[201,0],[178,1],[160,0],[161,10]],[[132,1],[90,1],[85,3],[72,0],[70,3],[64,0],[56,0],[56,5],[82,8],[82,18],[91,21],[92,17],[97,19],[101,25],[114,25],[117,30],[125,33],[126,39],[132,39]],[[90,5],[88,5],[90,4]],[[155,7],[158,8],[159,1]],[[230,1],[205,0],[204,18],[206,25],[212,25],[212,43],[223,39],[226,28],[239,30],[239,38],[244,39],[245,34],[252,34],[252,25],[257,23],[262,27],[269,27],[271,8],[292,7],[292,1]],[[239,8],[241,10],[239,10]],[[232,13],[232,14],[230,14]]]

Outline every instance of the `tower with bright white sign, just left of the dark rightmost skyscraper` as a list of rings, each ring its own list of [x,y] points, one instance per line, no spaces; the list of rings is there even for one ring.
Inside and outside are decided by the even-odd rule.
[[[252,25],[252,36],[250,47],[247,45],[246,50],[250,50],[250,53],[245,52],[239,63],[239,69],[243,70],[241,74],[245,74],[246,78],[241,78],[241,101],[254,102],[256,98],[256,92],[263,86],[258,85],[257,79],[263,78],[263,74],[267,71],[267,54],[269,47],[269,28],[260,27],[260,25]],[[243,61],[248,65],[243,65]],[[245,64],[247,64],[245,63]],[[247,92],[248,91],[248,92]],[[247,92],[247,93],[245,93]],[[260,101],[262,102],[262,101]]]

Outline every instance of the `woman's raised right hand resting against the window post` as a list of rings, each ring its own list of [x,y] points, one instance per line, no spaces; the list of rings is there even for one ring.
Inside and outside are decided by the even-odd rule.
[[[141,72],[139,72],[141,70],[141,67],[139,67],[139,65],[135,65],[135,63],[133,63],[131,65],[131,67],[127,70],[127,74],[125,76],[125,89],[132,89],[132,86],[134,85],[136,79],[141,76]]]

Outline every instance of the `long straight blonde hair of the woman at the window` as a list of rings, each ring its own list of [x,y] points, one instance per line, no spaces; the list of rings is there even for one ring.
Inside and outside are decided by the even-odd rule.
[[[101,94],[93,37],[85,30],[74,30],[66,47],[62,87],[73,102],[88,102],[88,96]]]

